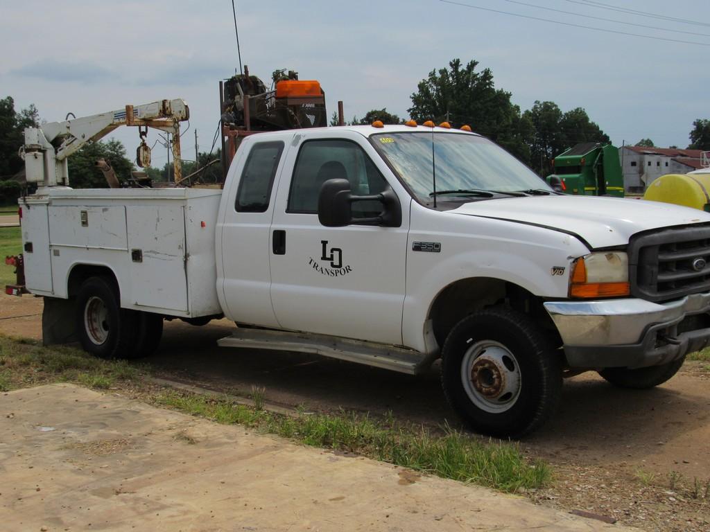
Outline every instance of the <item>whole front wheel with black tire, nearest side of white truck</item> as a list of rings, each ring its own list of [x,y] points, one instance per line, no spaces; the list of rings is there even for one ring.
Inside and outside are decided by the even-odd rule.
[[[447,336],[442,387],[474,431],[520,438],[557,408],[562,365],[527,315],[494,307],[466,316]]]

